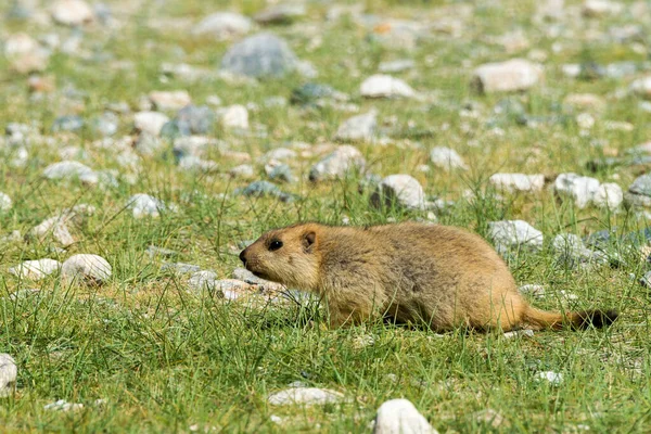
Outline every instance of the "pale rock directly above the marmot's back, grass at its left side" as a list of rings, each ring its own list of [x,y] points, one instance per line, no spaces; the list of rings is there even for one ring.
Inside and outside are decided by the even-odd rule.
[[[375,207],[397,205],[408,209],[423,209],[425,193],[420,182],[410,175],[390,175],[371,195],[371,204]]]

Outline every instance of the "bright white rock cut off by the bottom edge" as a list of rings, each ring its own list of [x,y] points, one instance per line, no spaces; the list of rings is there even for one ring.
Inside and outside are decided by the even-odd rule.
[[[392,399],[378,409],[373,434],[437,434],[407,399]]]

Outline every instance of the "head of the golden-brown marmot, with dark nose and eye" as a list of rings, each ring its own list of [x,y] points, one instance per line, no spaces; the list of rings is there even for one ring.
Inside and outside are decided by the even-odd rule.
[[[244,248],[240,259],[261,279],[316,291],[320,264],[318,233],[315,224],[270,230]]]

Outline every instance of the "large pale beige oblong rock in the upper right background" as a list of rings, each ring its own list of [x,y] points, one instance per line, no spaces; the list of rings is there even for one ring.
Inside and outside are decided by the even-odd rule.
[[[472,87],[481,93],[527,90],[542,77],[542,67],[524,59],[486,63],[473,73]]]

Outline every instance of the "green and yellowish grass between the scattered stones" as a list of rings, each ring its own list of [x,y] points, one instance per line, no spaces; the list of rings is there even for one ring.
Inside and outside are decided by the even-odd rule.
[[[10,73],[5,61],[0,60],[0,98],[7,101],[0,105],[0,126],[36,122],[50,135],[53,119],[69,113],[69,98],[64,97],[67,86],[81,92],[84,107],[79,113],[85,118],[101,113],[106,102],[126,101],[136,106],[139,97],[151,90],[187,89],[196,104],[214,94],[225,104],[257,103],[259,110],[250,113],[251,120],[267,127],[267,138],[243,138],[219,127],[212,131],[230,149],[250,152],[256,158],[288,141],[329,140],[339,124],[350,116],[335,110],[279,110],[261,104],[268,97],[289,98],[297,82],[306,81],[298,76],[259,86],[234,86],[219,78],[162,81],[161,63],[182,61],[213,68],[228,43],[190,38],[182,25],[161,28],[152,23],[164,18],[194,23],[237,2],[145,1],[142,8],[108,3],[124,27],[119,31],[91,27],[82,47],[110,53],[112,60],[99,63],[92,58],[55,54],[46,74],[53,76],[58,91],[48,100],[30,100],[26,79]],[[441,15],[429,2],[367,3],[370,12],[383,16],[425,20]],[[240,10],[253,13],[261,5],[246,2]],[[586,170],[589,159],[601,158],[604,153],[621,154],[648,138],[649,115],[638,110],[637,99],[613,97],[629,80],[580,81],[564,77],[560,68],[563,63],[590,60],[640,62],[643,55],[626,44],[582,37],[561,38],[564,49],[557,53],[551,50],[557,40],[546,36],[545,26],[532,22],[533,1],[477,2],[471,11],[469,16],[458,15],[465,23],[460,38],[432,38],[411,53],[370,41],[367,30],[350,18],[323,24],[326,5],[318,2],[309,3],[307,18],[273,30],[288,38],[299,58],[312,62],[320,73],[319,82],[350,93],[362,111],[376,107],[380,119],[395,116],[395,124],[386,127],[396,144],[360,144],[359,149],[371,163],[371,171],[383,176],[411,174],[427,194],[454,200],[455,205],[438,215],[441,222],[485,234],[488,221],[522,218],[542,230],[548,242],[562,232],[586,235],[616,228],[618,233],[626,233],[646,227],[634,212],[578,210],[548,191],[498,200],[486,183],[497,171],[590,175]],[[590,26],[605,31],[617,23],[622,21],[604,18]],[[574,26],[583,35],[582,24]],[[510,56],[486,42],[484,36],[516,28],[524,29],[531,48],[545,50],[549,59],[546,82],[510,98],[532,115],[544,116],[556,114],[569,93],[597,93],[608,100],[599,119],[629,122],[635,129],[613,131],[598,122],[588,137],[580,137],[571,118],[538,128],[507,122],[500,125],[505,133],[496,135],[485,118],[460,116],[464,103],[472,100],[487,117],[503,98],[472,94],[468,82],[474,65]],[[25,29],[34,35],[46,31],[35,24],[7,23],[4,35]],[[63,28],[52,31],[69,33]],[[308,49],[310,39],[318,35],[322,35],[322,44]],[[512,55],[526,55],[527,51]],[[381,61],[406,55],[414,59],[418,67],[398,76],[416,89],[434,92],[432,102],[366,101],[358,97],[359,84],[376,72]],[[462,66],[468,60],[470,66]],[[117,137],[130,133],[131,128],[130,115],[125,115]],[[539,307],[620,309],[621,320],[607,331],[540,332],[522,339],[462,331],[437,335],[380,323],[324,331],[320,327],[322,312],[314,303],[259,309],[192,294],[183,278],[161,271],[165,259],[150,258],[145,251],[152,244],[171,248],[179,253],[175,260],[228,278],[239,266],[233,254],[237,244],[271,227],[302,219],[339,224],[344,216],[353,224],[367,225],[424,218],[425,213],[374,210],[368,193],[358,193],[356,179],[315,187],[302,178],[283,186],[301,197],[289,204],[232,195],[224,199],[222,193],[232,193],[246,182],[221,174],[184,173],[163,158],[145,158],[132,186],[123,182],[102,190],[78,182],[46,181],[42,169],[60,159],[58,149],[64,144],[85,149],[85,163],[93,168],[124,171],[115,152],[91,144],[95,137],[90,130],[54,137],[52,145],[30,148],[26,167],[0,165],[0,191],[14,202],[12,210],[0,215],[2,234],[13,230],[26,233],[56,210],[77,203],[91,204],[98,212],[77,228],[79,241],[64,253],[52,253],[53,244],[37,242],[4,242],[0,248],[0,352],[11,354],[20,369],[17,392],[0,400],[0,431],[363,432],[380,404],[396,397],[410,399],[439,432],[649,431],[649,301],[647,290],[637,283],[644,265],[626,245],[609,246],[626,260],[620,268],[567,269],[554,261],[548,243],[539,253],[519,252],[510,260],[519,283],[546,285],[548,295],[535,301]],[[605,149],[595,146],[595,141],[605,142]],[[414,167],[427,163],[427,149],[433,145],[456,149],[471,169],[417,173]],[[10,150],[3,152],[11,154]],[[210,156],[225,174],[234,165],[220,158],[218,151]],[[315,161],[295,162],[294,171],[305,175]],[[257,169],[263,179],[261,167]],[[626,189],[644,170],[616,166],[590,176]],[[463,199],[468,189],[478,192],[480,199]],[[179,212],[158,219],[133,219],[125,209],[126,201],[141,192],[180,205]],[[111,281],[89,289],[63,285],[56,276],[26,282],[7,272],[24,259],[63,260],[76,253],[104,256],[113,266]],[[9,297],[29,288],[40,292]],[[577,299],[567,302],[561,291],[576,294]],[[561,373],[562,382],[553,385],[539,381],[544,371]],[[270,393],[294,381],[343,392],[347,400],[308,409],[267,405]],[[58,399],[81,403],[85,409],[43,409]],[[95,404],[97,399],[103,404]],[[501,425],[473,418],[474,412],[488,408],[503,417]],[[282,418],[282,423],[273,422],[271,416]]]

